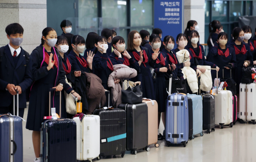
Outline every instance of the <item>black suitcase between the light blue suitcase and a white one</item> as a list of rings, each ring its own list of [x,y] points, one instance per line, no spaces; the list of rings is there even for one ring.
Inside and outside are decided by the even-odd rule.
[[[215,95],[202,93],[203,98],[203,130],[215,131]]]

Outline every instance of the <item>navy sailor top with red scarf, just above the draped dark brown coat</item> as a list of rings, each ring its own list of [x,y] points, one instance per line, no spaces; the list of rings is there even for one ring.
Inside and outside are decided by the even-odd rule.
[[[87,54],[86,54],[87,55]],[[93,73],[93,70],[88,67],[88,63],[84,57],[79,54],[79,57],[76,55],[76,53],[72,50],[68,54],[68,57],[70,57],[72,62],[72,71],[83,71],[86,73]]]

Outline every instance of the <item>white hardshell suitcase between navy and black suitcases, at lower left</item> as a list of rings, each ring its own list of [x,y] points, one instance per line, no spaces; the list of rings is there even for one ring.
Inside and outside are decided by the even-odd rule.
[[[84,115],[82,122],[74,117],[76,122],[76,158],[77,160],[100,159],[100,116]]]

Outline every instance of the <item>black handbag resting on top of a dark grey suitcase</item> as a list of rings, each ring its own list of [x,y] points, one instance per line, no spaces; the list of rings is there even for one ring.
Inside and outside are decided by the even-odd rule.
[[[140,84],[140,83],[139,83]],[[122,90],[122,103],[135,104],[142,103],[142,85],[128,87]]]

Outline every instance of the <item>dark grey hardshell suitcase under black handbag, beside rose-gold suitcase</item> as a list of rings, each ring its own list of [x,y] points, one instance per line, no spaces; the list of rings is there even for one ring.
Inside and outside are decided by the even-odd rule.
[[[126,111],[126,150],[137,154],[136,150],[148,147],[148,106],[146,103],[120,104],[118,109]]]

